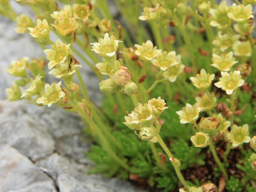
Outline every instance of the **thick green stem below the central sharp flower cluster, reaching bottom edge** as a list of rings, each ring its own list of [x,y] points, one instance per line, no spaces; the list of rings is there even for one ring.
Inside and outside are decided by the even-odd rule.
[[[157,137],[158,139],[158,143],[161,145],[161,147],[164,149],[164,152],[166,152],[167,156],[169,158],[173,158],[173,155],[172,153],[169,151],[169,149],[167,148],[167,146],[165,145],[163,139],[161,138],[160,134],[159,133],[156,133],[155,136]],[[184,188],[186,189],[186,191],[189,191],[189,187],[188,187],[188,184],[186,183],[184,177],[182,176],[181,174],[181,170],[179,170],[179,167],[176,165],[175,162],[171,161],[173,167],[174,167],[174,170],[177,174],[177,176],[179,177],[179,180],[181,181],[182,185],[184,186]]]

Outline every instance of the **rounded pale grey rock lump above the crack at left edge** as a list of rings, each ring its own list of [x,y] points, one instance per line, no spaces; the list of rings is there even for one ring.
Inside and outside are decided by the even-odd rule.
[[[38,117],[33,118],[27,113],[16,116],[17,111],[13,103],[0,104],[3,109],[9,109],[8,112],[0,113],[1,143],[18,149],[32,161],[52,154],[55,142],[47,128],[37,124]]]

